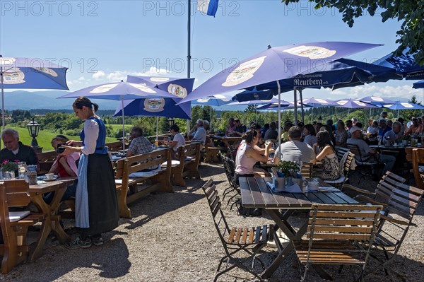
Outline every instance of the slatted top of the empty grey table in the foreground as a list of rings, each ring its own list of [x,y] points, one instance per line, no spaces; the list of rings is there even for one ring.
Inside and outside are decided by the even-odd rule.
[[[299,209],[311,208],[312,204],[358,204],[343,192],[307,192],[288,193],[273,192],[266,185],[271,182],[270,177],[240,177],[240,190],[242,203],[246,208],[269,208],[269,209]],[[319,187],[331,187],[331,185],[319,181]]]

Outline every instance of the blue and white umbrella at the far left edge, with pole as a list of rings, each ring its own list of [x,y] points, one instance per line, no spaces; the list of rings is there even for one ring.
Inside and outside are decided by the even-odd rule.
[[[0,55],[1,124],[4,129],[4,89],[61,89],[66,85],[66,70],[49,61]]]

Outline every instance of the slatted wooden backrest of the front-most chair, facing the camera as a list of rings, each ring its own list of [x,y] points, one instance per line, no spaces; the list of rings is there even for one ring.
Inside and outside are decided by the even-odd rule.
[[[323,240],[374,240],[382,206],[312,205],[307,237]]]

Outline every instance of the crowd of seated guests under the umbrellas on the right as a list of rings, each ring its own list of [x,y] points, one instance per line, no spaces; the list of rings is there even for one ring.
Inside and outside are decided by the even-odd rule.
[[[338,120],[334,123],[329,119],[325,124],[312,122],[294,126],[293,122],[286,121],[281,125],[281,146],[269,148],[264,146],[264,140],[271,139],[276,142],[278,139],[278,122],[270,122],[261,127],[259,124],[251,124],[249,130],[242,134],[243,141],[238,148],[235,148],[234,156],[236,163],[236,173],[240,175],[261,175],[257,172],[255,165],[257,162],[266,162],[265,156],[274,153],[273,163],[280,160],[291,160],[299,165],[302,163],[316,163],[322,165],[314,168],[314,176],[324,180],[336,180],[341,177],[342,172],[336,156],[336,146],[347,147],[353,144],[358,147],[362,155],[362,160],[382,164],[382,171],[375,177],[391,170],[396,162],[394,155],[379,153],[370,145],[377,145],[377,140],[382,145],[394,145],[402,143],[403,139],[409,135],[416,136],[423,131],[423,119],[412,118],[411,122],[404,123],[404,119],[396,121],[387,119],[387,112],[383,111],[376,120],[369,120],[368,127],[364,127],[358,119],[348,119],[345,122]],[[230,118],[226,133],[229,136],[234,134],[236,129],[240,129],[240,121]],[[254,134],[253,131],[257,131]],[[247,136],[249,134],[249,136]],[[377,136],[380,136],[377,138]],[[249,140],[247,143],[245,140]],[[395,146],[396,146],[395,145]],[[359,156],[355,156],[359,160]]]

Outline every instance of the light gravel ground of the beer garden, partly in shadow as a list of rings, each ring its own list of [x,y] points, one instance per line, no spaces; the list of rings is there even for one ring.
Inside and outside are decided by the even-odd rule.
[[[69,250],[49,237],[44,253],[37,262],[16,266],[0,281],[213,281],[223,247],[220,245],[211,213],[201,185],[212,178],[220,193],[227,187],[222,165],[201,165],[202,180],[187,180],[187,187],[175,187],[172,194],[151,194],[131,205],[134,218],[121,219],[119,227],[104,235],[105,245],[89,249]],[[413,181],[413,180],[411,180]],[[354,181],[353,184],[356,184]],[[374,189],[376,182],[367,180],[358,187]],[[423,281],[424,274],[424,207],[420,204],[392,268],[406,276],[407,281]],[[255,218],[238,216],[223,204],[229,225],[256,226],[272,223],[266,215]],[[293,221],[302,220],[302,214]],[[65,222],[66,226],[73,223]],[[33,233],[34,237],[36,233]],[[260,257],[268,265],[275,249],[264,248]],[[372,262],[370,269],[376,264]],[[299,281],[300,268],[295,254],[283,262],[268,281]],[[346,267],[325,268],[334,281],[352,281]],[[260,269],[257,269],[259,272]],[[398,281],[377,270],[365,281]],[[245,271],[232,270],[219,281],[255,281]],[[307,281],[323,281],[313,271]]]

